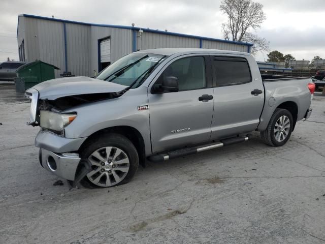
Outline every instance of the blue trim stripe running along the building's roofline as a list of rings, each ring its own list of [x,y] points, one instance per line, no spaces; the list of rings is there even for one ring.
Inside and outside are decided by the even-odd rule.
[[[29,18],[52,20],[52,21],[59,21],[59,22],[64,22],[64,23],[84,24],[84,25],[101,26],[101,27],[121,28],[121,29],[133,29],[135,31],[139,31],[140,29],[143,29],[145,32],[158,33],[158,34],[169,35],[169,36],[188,37],[188,38],[195,38],[195,39],[200,39],[200,40],[218,41],[218,42],[224,42],[224,43],[232,43],[232,44],[239,44],[239,45],[245,45],[245,46],[253,46],[252,43],[234,42],[234,41],[222,40],[222,39],[217,39],[217,38],[201,37],[201,36],[180,34],[180,33],[174,33],[174,32],[156,31],[155,29],[147,29],[147,28],[140,28],[140,27],[133,27],[133,26],[111,25],[111,24],[93,24],[93,23],[85,23],[85,22],[78,22],[78,21],[72,21],[72,20],[54,19],[54,18],[48,18],[48,17],[36,16],[36,15],[29,15],[29,14],[23,14],[23,15],[20,15],[20,16],[29,17]],[[18,18],[18,22],[19,22],[19,18]]]

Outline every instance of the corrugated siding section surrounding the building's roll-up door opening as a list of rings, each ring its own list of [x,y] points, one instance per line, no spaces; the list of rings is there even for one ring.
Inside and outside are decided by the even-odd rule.
[[[111,62],[132,52],[131,29],[119,29],[111,27],[90,26],[91,46],[90,60],[91,68],[89,76],[93,76],[93,70],[98,71],[98,40],[111,37]]]

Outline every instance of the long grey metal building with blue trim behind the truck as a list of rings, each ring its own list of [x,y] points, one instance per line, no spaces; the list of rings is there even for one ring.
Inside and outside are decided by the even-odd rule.
[[[76,76],[95,72],[118,58],[151,48],[210,48],[250,52],[253,44],[185,35],[135,26],[91,24],[19,15],[17,27],[19,59],[43,62]]]

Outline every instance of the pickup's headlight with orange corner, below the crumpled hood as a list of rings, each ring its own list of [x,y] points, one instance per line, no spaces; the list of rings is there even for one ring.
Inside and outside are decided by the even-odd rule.
[[[77,117],[77,113],[40,111],[40,126],[53,131],[63,131]]]

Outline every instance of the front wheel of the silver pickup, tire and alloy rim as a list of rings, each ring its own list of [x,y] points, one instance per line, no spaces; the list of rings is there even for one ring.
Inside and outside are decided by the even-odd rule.
[[[115,187],[129,182],[139,166],[136,147],[125,136],[106,133],[89,140],[80,151],[90,171],[81,181],[86,188]]]

